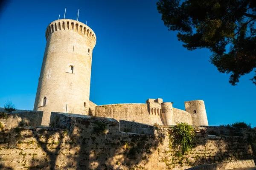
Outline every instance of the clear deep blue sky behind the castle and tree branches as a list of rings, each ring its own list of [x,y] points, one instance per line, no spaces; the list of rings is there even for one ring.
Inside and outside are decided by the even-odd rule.
[[[209,63],[208,49],[188,51],[168,31],[157,0],[12,0],[0,14],[0,107],[11,99],[32,110],[46,45],[47,25],[64,17],[93,29],[90,100],[97,105],[145,103],[163,98],[184,109],[202,99],[209,125],[244,121],[256,126],[256,86],[249,78],[237,86]]]

